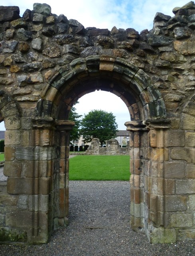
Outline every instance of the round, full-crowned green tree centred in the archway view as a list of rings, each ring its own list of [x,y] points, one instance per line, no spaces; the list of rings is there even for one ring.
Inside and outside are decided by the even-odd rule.
[[[81,120],[80,134],[83,135],[84,143],[98,138],[102,147],[106,140],[116,137],[117,128],[118,124],[112,113],[92,110]]]

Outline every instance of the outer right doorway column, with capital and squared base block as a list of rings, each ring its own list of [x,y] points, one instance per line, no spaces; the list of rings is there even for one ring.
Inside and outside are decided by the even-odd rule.
[[[150,143],[150,161],[144,176],[145,210],[148,223],[146,234],[152,243],[175,242],[175,231],[165,229],[165,162],[169,150],[165,146],[165,134],[170,128],[169,119],[151,118],[146,120]],[[146,226],[146,225],[145,225]]]

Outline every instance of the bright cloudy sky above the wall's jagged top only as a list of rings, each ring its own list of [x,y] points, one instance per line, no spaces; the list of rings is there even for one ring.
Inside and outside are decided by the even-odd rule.
[[[26,9],[33,10],[34,0],[1,0],[3,6],[19,6],[22,16]],[[64,14],[78,20],[83,26],[97,28],[134,28],[138,32],[152,29],[156,12],[173,16],[174,7],[183,6],[186,0],[38,0],[51,6],[53,14]]]

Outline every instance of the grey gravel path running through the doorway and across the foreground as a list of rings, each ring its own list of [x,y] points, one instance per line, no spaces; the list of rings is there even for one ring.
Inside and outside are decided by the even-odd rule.
[[[0,245],[1,256],[187,256],[195,241],[150,244],[129,225],[129,182],[70,181],[70,224],[48,244]]]

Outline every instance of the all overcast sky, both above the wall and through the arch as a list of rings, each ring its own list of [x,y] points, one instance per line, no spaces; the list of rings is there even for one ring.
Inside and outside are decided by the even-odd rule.
[[[0,0],[2,6],[19,6],[20,16],[26,9],[33,10],[32,0]],[[47,3],[53,14],[64,14],[69,20],[78,20],[85,28],[134,28],[139,33],[152,29],[156,12],[174,16],[172,10],[181,7],[189,0],[38,0]],[[86,104],[87,102],[87,104]],[[119,130],[125,130],[124,122],[130,115],[124,102],[109,92],[93,92],[79,99],[76,106],[78,114],[87,114],[93,109],[112,112],[116,116]],[[0,130],[4,130],[0,124]]]

